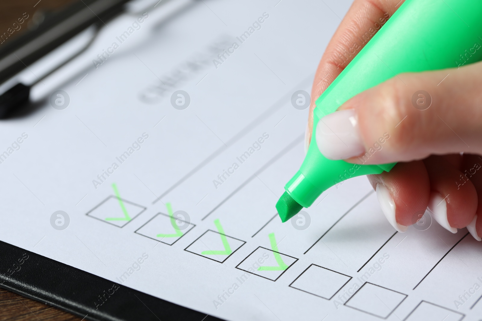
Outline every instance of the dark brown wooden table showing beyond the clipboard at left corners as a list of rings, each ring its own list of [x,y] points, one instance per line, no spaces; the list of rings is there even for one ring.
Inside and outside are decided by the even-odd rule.
[[[26,23],[33,21],[34,15],[39,12],[54,10],[74,0],[3,0],[0,1],[0,34],[7,32],[23,13],[28,14]],[[35,6],[35,7],[34,7]],[[14,32],[12,37],[27,30],[24,23],[19,32]],[[7,42],[5,41],[5,43]],[[1,46],[1,44],[0,44]],[[28,299],[24,296],[0,288],[0,321],[81,321],[70,313],[46,304]]]

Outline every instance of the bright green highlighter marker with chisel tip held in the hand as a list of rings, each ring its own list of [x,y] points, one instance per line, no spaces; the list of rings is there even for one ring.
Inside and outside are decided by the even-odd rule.
[[[317,99],[308,153],[276,204],[281,221],[309,207],[321,193],[343,180],[388,172],[396,164],[358,165],[327,159],[318,149],[315,134],[323,116],[400,73],[480,61],[481,47],[482,1],[406,0]]]

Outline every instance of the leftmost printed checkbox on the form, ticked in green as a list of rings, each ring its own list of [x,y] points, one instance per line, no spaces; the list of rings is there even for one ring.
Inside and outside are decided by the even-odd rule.
[[[121,228],[145,210],[144,206],[111,195],[86,215]]]

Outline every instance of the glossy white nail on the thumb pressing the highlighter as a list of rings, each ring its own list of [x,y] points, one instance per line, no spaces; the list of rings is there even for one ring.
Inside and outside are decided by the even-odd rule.
[[[316,126],[316,143],[328,159],[346,159],[365,151],[353,109],[324,116]]]

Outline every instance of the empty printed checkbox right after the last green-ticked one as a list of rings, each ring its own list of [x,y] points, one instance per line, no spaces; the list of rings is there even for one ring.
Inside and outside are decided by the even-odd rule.
[[[350,280],[351,276],[311,264],[289,286],[331,300]]]

